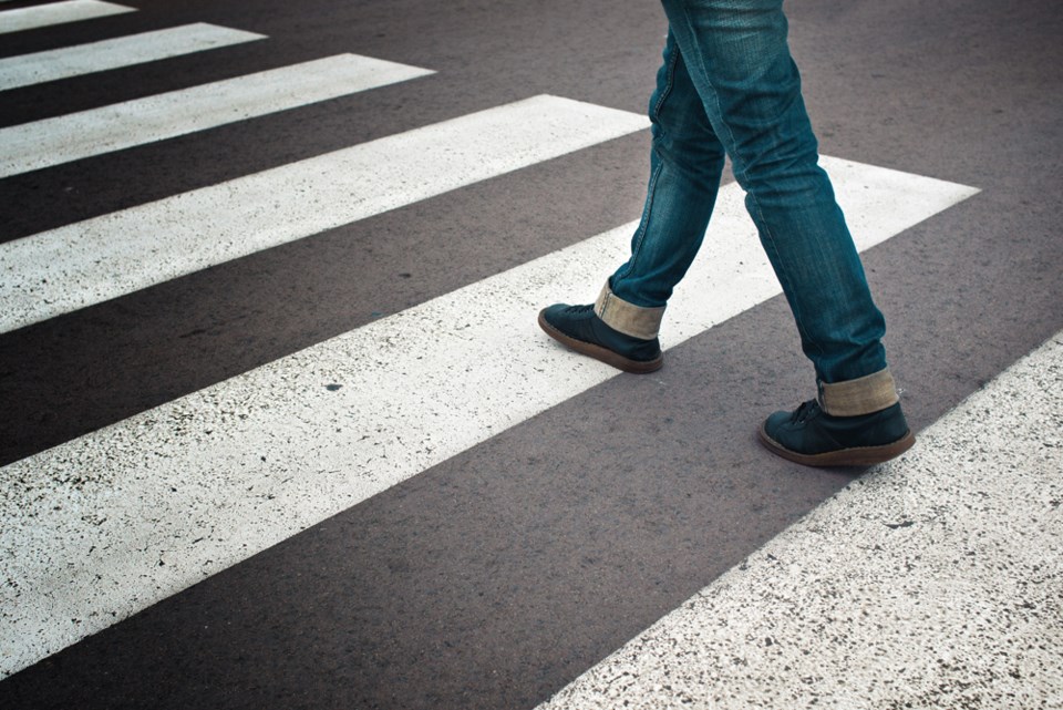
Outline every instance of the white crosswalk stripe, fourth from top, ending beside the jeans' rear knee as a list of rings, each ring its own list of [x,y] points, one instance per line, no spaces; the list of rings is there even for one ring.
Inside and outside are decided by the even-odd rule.
[[[640,131],[536,96],[0,245],[0,331]]]

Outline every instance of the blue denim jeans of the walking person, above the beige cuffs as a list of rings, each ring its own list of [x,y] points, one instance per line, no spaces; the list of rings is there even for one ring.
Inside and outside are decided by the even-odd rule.
[[[669,34],[649,106],[651,173],[631,257],[603,289],[619,306],[613,320],[622,322],[627,309],[648,317],[643,326],[654,318],[659,325],[701,246],[727,155],[817,380],[885,371],[885,321],[817,165],[782,0],[662,4]],[[889,385],[887,399],[895,399]]]

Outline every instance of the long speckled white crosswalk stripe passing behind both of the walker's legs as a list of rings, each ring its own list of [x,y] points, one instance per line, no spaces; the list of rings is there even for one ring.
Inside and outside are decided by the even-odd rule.
[[[861,248],[977,192],[824,163]],[[0,579],[18,583],[0,586],[2,671],[613,377],[549,340],[535,317],[560,298],[594,298],[634,226],[6,466]],[[669,309],[665,344],[778,291],[735,185],[720,195],[706,245]]]

